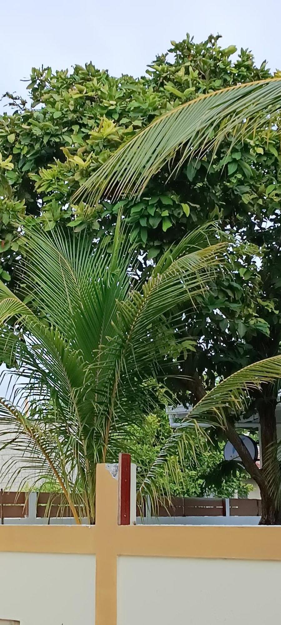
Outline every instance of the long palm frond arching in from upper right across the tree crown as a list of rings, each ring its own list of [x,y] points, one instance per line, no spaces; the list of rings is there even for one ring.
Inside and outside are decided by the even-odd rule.
[[[217,151],[225,137],[235,143],[262,124],[281,106],[281,79],[235,85],[199,96],[155,119],[104,163],[77,191],[89,205],[102,196],[139,197],[165,163],[170,174],[194,156]],[[179,158],[174,161],[175,154]]]

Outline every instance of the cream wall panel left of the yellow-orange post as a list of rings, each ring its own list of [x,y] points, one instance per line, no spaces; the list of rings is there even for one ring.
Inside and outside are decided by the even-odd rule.
[[[0,619],[90,625],[95,572],[95,556],[0,552]]]

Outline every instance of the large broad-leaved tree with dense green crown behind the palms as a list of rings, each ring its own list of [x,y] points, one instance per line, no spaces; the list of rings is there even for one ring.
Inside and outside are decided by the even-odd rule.
[[[270,78],[266,63],[257,68],[247,49],[233,62],[235,51],[235,46],[222,49],[219,37],[196,44],[187,36],[172,42],[174,61],[170,54],[157,56],[148,76],[138,80],[112,78],[91,63],[76,66],[70,74],[33,68],[31,108],[7,94],[14,113],[0,118],[2,279],[14,280],[14,267],[21,262],[14,222],[24,213],[27,221],[36,218],[46,229],[61,222],[74,231],[92,229],[94,236],[111,241],[120,202],[72,204],[72,194],[112,151],[155,117],[198,94]],[[190,399],[198,401],[217,379],[279,352],[279,149],[278,133],[270,126],[235,145],[230,137],[215,158],[205,154],[180,169],[176,178],[168,180],[167,168],[162,168],[137,204],[122,200],[131,236],[147,254],[142,254],[141,271],[146,259],[157,261],[171,242],[209,219],[218,219],[225,230],[234,229],[242,241],[263,250],[258,266],[250,257],[237,261],[235,280],[224,275],[212,296],[202,299],[198,314],[189,317],[188,337],[182,332],[181,339],[193,341],[195,351],[189,349],[181,366],[190,378],[177,387],[184,399],[189,391]],[[265,450],[276,438],[277,387],[263,387],[258,400]],[[247,468],[254,471],[249,462]],[[255,473],[264,501],[263,521],[275,522],[276,506],[264,478],[265,471]]]

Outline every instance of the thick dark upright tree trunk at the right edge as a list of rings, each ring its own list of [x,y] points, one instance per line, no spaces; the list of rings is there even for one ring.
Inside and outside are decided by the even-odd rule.
[[[260,525],[281,525],[279,504],[280,469],[276,451],[276,403],[277,399],[272,396],[272,385],[270,384],[266,388],[265,397],[257,404],[260,415],[260,444],[262,449],[262,469],[260,469],[260,472],[263,477],[260,485],[260,496],[262,499]],[[274,487],[275,492],[272,492],[272,487]]]

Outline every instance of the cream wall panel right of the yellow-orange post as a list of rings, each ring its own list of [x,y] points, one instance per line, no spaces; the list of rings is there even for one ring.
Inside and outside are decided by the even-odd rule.
[[[264,625],[280,617],[281,562],[119,557],[117,573],[117,625]]]

